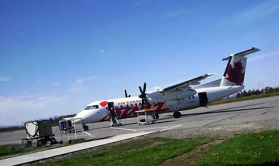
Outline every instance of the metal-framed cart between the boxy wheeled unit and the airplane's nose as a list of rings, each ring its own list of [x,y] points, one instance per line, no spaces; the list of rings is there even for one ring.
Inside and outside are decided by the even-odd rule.
[[[61,140],[60,144],[63,144],[64,142],[68,142],[69,144],[72,143],[72,141],[80,141],[84,140],[84,134],[83,134],[83,123],[81,123],[81,127],[79,128],[77,124],[75,124],[75,120],[81,120],[83,122],[82,118],[64,118],[61,121],[59,121],[60,126],[60,133],[61,133]],[[82,131],[82,138],[77,139],[77,130]],[[68,132],[68,140],[63,140],[62,133]],[[75,139],[70,139],[70,133],[74,132]]]

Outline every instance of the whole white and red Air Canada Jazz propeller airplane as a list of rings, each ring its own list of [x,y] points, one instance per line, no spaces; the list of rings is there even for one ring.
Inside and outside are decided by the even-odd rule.
[[[206,107],[207,104],[235,94],[244,89],[244,74],[246,68],[246,55],[260,51],[252,47],[243,52],[231,54],[224,58],[228,61],[222,78],[200,85],[201,80],[212,74],[204,74],[196,78],[181,82],[164,89],[146,91],[146,83],[143,89],[138,86],[139,96],[131,97],[124,89],[125,98],[95,101],[88,104],[82,112],[74,118],[76,124],[82,123],[84,130],[88,130],[88,123],[109,121],[112,126],[121,125],[120,120],[137,117],[139,110],[154,110],[154,119],[159,114],[173,113],[174,118],[180,118],[182,110],[197,107]],[[195,86],[191,88],[190,86]],[[82,121],[82,122],[81,122]]]

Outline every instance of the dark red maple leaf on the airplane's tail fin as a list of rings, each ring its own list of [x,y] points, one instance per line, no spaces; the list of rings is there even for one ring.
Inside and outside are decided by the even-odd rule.
[[[227,70],[228,77],[225,78],[231,82],[234,82],[236,85],[241,86],[244,82],[245,72],[242,73],[244,67],[240,61],[234,62],[234,68],[230,64],[229,69]]]

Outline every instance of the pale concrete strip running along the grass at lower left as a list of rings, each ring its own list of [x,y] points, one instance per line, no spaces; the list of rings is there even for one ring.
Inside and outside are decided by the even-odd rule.
[[[0,165],[1,166],[21,165],[24,163],[36,162],[36,161],[39,161],[42,159],[47,159],[47,158],[55,157],[58,155],[63,155],[63,154],[72,153],[75,151],[80,151],[80,150],[85,150],[85,149],[102,146],[102,145],[106,145],[106,144],[110,144],[110,143],[115,143],[115,142],[122,141],[122,140],[132,139],[134,137],[150,134],[153,132],[156,132],[156,131],[116,135],[113,137],[109,137],[107,139],[95,140],[95,141],[85,142],[85,143],[81,143],[81,144],[75,144],[75,145],[65,146],[65,147],[61,147],[61,148],[50,149],[50,150],[45,150],[45,151],[41,151],[41,152],[6,158],[6,159],[0,160]]]

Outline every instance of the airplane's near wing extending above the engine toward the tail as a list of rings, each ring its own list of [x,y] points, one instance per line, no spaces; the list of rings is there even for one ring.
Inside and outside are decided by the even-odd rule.
[[[207,77],[209,77],[211,75],[214,75],[214,74],[216,74],[216,73],[204,74],[204,75],[198,76],[196,78],[193,78],[193,79],[181,82],[180,84],[176,84],[176,85],[173,85],[171,87],[165,88],[162,91],[171,92],[171,91],[182,90],[182,89],[183,90],[190,89],[189,88],[190,85],[199,85],[200,84],[200,82],[199,82],[200,80],[206,79]]]

